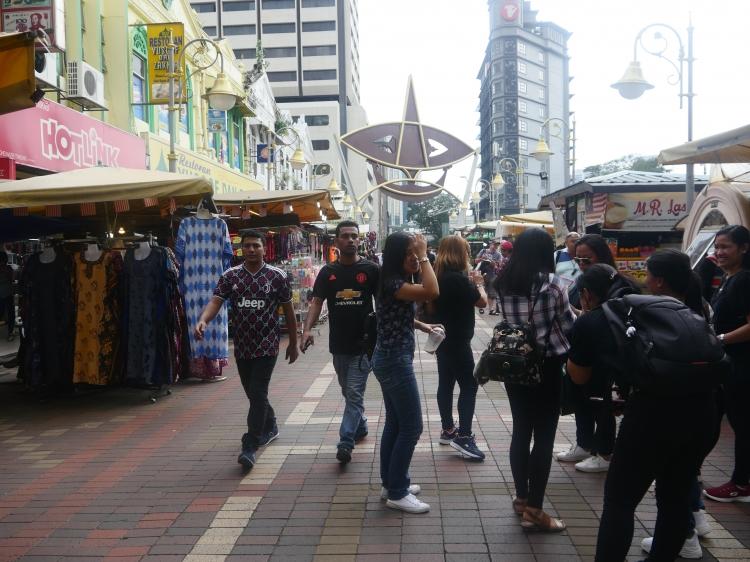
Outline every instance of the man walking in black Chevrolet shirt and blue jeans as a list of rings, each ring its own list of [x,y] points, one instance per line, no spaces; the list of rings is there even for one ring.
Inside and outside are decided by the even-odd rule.
[[[370,361],[361,341],[365,319],[373,310],[379,269],[371,261],[357,255],[358,245],[359,225],[353,221],[340,222],[336,226],[339,259],[323,266],[315,279],[313,299],[300,341],[303,353],[314,343],[310,330],[320,317],[323,301],[327,301],[331,317],[329,349],[346,401],[336,452],[341,464],[352,460],[355,441],[367,435],[364,394]]]

